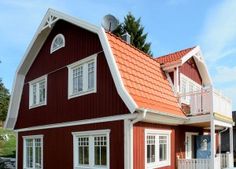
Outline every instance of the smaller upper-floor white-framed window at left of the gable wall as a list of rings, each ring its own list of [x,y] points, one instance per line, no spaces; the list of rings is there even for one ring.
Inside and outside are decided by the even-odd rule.
[[[29,108],[46,105],[47,76],[29,82]]]

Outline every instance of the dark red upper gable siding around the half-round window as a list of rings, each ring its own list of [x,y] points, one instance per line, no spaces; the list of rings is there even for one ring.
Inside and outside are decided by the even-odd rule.
[[[55,35],[65,36],[65,47],[50,54]],[[66,22],[58,22],[28,71],[16,128],[76,121],[129,113],[115,88],[104,53],[97,57],[97,93],[68,98],[67,65],[102,51],[96,34]],[[48,74],[47,105],[29,110],[28,82]]]

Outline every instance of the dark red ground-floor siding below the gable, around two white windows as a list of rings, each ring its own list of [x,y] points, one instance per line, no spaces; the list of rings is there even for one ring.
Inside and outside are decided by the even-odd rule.
[[[71,132],[110,129],[110,168],[124,168],[124,127],[123,121],[99,123],[66,128],[55,128],[18,135],[18,169],[23,169],[23,138],[27,135],[44,135],[43,137],[43,168],[73,168],[73,136]]]

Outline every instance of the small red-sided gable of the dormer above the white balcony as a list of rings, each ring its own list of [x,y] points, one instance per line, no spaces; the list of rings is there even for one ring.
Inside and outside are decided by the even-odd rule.
[[[180,67],[180,73],[183,73],[185,76],[202,85],[202,78],[193,58],[190,58]]]

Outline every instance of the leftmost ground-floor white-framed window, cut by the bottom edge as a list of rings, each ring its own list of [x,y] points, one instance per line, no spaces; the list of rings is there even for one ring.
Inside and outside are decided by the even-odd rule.
[[[24,169],[43,168],[43,136],[23,136]]]

